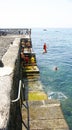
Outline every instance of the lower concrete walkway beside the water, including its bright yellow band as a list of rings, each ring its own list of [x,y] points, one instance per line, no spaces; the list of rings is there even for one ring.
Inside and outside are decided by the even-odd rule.
[[[60,102],[49,100],[43,90],[40,79],[24,79],[25,95],[29,105],[28,109],[22,106],[22,130],[28,125],[30,130],[69,130],[61,111]],[[23,102],[25,104],[25,102]],[[28,119],[29,117],[29,119]]]

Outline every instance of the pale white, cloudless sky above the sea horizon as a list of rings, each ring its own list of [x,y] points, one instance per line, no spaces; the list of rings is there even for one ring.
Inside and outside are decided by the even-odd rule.
[[[0,0],[0,28],[72,28],[72,0]]]

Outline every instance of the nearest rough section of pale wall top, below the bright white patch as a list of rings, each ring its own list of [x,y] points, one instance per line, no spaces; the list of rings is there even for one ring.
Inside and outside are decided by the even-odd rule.
[[[0,129],[6,128],[9,119],[12,75],[0,77]]]

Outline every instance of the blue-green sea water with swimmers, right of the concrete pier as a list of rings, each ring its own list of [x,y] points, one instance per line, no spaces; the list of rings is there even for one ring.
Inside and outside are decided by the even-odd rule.
[[[44,91],[49,98],[60,100],[72,130],[72,29],[32,29],[31,38]]]

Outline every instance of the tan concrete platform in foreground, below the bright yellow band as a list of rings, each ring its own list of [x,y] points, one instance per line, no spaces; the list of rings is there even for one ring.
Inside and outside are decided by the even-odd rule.
[[[42,100],[28,103],[30,130],[69,130],[59,101]],[[22,108],[22,117],[27,126],[27,110],[25,107]],[[26,130],[24,125],[22,130]]]

